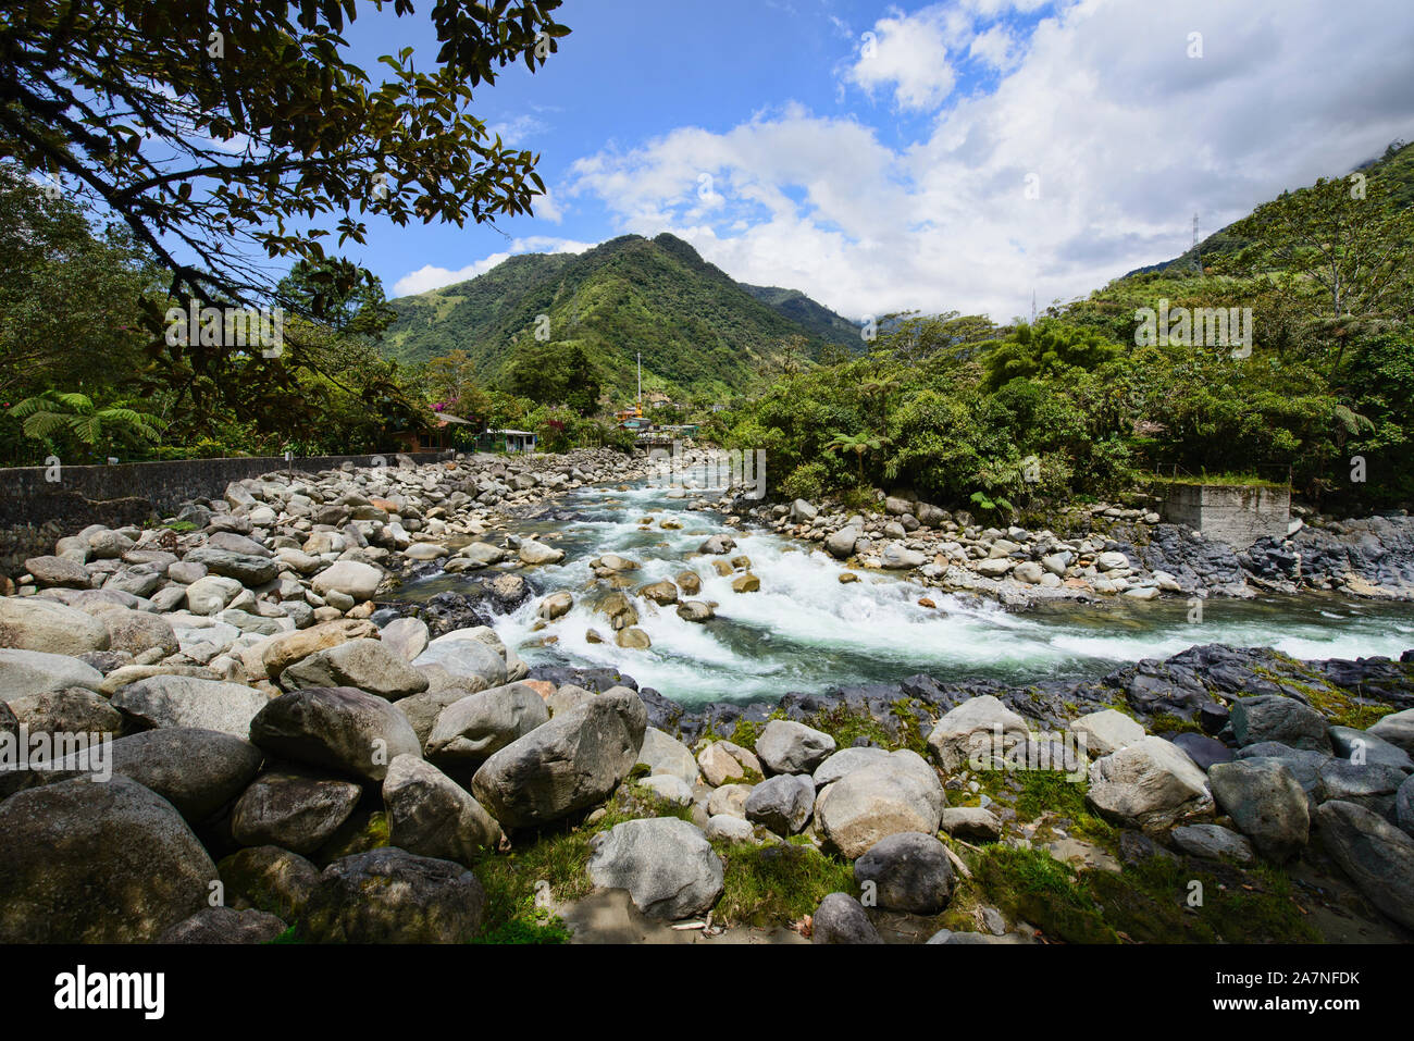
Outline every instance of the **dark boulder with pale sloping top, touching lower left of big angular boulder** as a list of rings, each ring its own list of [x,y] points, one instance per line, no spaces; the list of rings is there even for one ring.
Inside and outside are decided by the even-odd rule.
[[[383,778],[389,842],[421,857],[471,864],[501,843],[501,825],[461,785],[414,755],[399,755]]]

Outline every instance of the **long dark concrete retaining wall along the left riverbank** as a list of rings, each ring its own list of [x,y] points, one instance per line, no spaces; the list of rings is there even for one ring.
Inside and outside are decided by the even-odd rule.
[[[318,472],[344,463],[375,465],[397,458],[438,463],[452,451],[393,455],[315,455],[286,463],[279,455],[230,460],[170,460],[117,467],[14,467],[0,470],[0,574],[24,570],[25,557],[54,552],[54,543],[92,523],[136,525],[170,515],[188,499],[219,496],[228,484],[277,470]],[[58,477],[57,481],[49,479]]]

